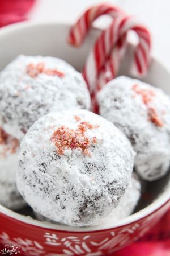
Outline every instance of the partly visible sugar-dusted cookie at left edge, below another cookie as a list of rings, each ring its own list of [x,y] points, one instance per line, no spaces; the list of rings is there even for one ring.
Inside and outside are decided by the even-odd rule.
[[[0,128],[0,204],[16,210],[26,203],[16,188],[19,142]]]

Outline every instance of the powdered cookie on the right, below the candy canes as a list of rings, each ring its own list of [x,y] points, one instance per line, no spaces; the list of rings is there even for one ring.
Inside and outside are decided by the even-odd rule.
[[[98,94],[100,114],[130,139],[135,168],[153,181],[164,176],[170,161],[170,100],[163,90],[121,76]]]

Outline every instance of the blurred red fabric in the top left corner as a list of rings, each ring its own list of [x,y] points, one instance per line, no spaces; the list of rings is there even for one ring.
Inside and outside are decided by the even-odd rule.
[[[0,27],[25,19],[35,0],[0,0]]]

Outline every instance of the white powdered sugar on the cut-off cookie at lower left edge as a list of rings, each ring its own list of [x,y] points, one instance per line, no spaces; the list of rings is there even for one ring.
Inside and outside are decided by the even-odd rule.
[[[19,148],[14,154],[0,145],[0,203],[7,208],[16,210],[26,203],[16,188],[16,171],[18,170]]]

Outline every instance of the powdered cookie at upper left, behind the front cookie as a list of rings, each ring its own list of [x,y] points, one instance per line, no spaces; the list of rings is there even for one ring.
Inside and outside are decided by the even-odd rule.
[[[16,57],[0,75],[0,126],[21,139],[39,117],[65,109],[89,109],[82,75],[55,57]]]

